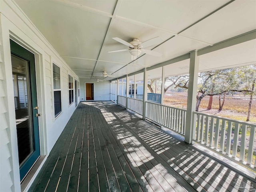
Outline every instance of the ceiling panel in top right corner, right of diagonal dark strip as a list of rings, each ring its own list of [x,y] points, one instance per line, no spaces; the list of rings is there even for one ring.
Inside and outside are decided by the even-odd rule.
[[[182,32],[182,35],[218,43],[256,29],[256,1],[236,0]]]

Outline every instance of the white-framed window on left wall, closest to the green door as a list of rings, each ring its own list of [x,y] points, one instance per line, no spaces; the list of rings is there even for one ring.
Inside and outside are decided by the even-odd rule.
[[[54,114],[57,117],[61,113],[61,86],[60,68],[53,63],[53,93],[54,93]]]

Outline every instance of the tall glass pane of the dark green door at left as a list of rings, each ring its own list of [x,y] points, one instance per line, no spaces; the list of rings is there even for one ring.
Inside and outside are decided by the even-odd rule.
[[[31,89],[28,61],[12,54],[12,79],[20,166],[34,151]]]

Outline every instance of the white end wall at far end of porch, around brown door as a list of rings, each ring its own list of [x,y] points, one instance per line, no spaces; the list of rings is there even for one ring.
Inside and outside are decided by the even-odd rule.
[[[80,101],[85,100],[85,83],[94,83],[95,101],[110,100],[110,81],[96,82],[88,79],[80,79]]]

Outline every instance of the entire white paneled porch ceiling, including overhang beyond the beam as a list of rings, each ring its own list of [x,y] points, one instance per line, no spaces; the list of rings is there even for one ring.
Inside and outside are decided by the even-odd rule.
[[[222,7],[228,2],[16,0],[78,77],[88,79],[99,78],[103,71],[108,74],[115,72],[113,76],[120,77],[144,68],[131,63],[129,52],[108,53],[110,50],[127,48],[113,40],[113,37],[127,42],[139,38],[140,42],[144,42],[160,36],[164,43],[147,49],[162,53],[162,57],[146,54],[134,61],[136,65],[150,67],[255,30],[256,1],[236,0]],[[204,54],[200,56],[200,70],[255,63],[255,53],[256,41],[252,40]],[[189,60],[166,66],[166,75],[188,73],[188,66]],[[149,78],[159,76],[158,70],[150,70],[149,75]]]

